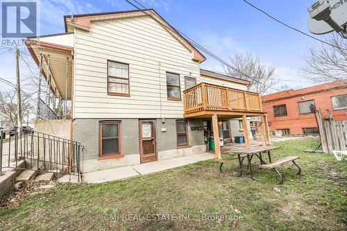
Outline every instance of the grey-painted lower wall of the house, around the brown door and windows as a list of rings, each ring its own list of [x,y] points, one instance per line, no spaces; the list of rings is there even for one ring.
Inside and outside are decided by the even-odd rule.
[[[127,166],[140,163],[139,157],[139,120],[112,119],[121,121],[122,157],[109,160],[99,160],[99,122],[102,119],[76,119],[73,123],[73,139],[85,148],[81,154],[81,168],[83,172],[110,169],[117,166]],[[109,121],[109,120],[108,120]],[[190,129],[191,126],[202,126],[201,119],[188,121],[189,148],[177,148],[176,119],[156,120],[156,139],[158,160],[170,159],[183,155],[203,153],[205,144],[203,130]],[[162,128],[166,131],[162,132]]]

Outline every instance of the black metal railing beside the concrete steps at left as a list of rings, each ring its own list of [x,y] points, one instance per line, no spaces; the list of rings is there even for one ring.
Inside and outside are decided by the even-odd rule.
[[[1,130],[0,137],[0,174],[5,168],[35,169],[80,180],[80,143],[21,128]]]

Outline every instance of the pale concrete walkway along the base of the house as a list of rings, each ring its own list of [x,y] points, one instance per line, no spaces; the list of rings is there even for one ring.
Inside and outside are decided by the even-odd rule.
[[[140,176],[149,173],[156,173],[167,169],[174,169],[178,166],[193,164],[203,160],[210,160],[214,158],[213,153],[201,153],[196,155],[187,155],[177,157],[170,160],[159,160],[145,164],[136,164],[133,166],[123,166],[115,169],[106,169],[101,171],[92,171],[84,173],[82,180],[85,183],[101,183],[112,180],[121,180],[133,176]]]

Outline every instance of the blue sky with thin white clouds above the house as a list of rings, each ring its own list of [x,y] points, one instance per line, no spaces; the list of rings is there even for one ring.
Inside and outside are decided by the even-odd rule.
[[[280,85],[306,87],[312,85],[298,68],[305,63],[303,55],[319,42],[291,31],[266,15],[251,8],[242,0],[198,1],[198,0],[138,0],[146,8],[154,8],[172,26],[182,31],[199,44],[216,53],[224,60],[237,52],[251,52],[263,62],[277,67]],[[270,15],[281,19],[306,33],[307,7],[314,0],[255,1],[249,0]],[[133,10],[124,0],[42,0],[40,1],[40,34],[64,32],[63,15],[89,12]],[[315,35],[316,37],[321,37]],[[0,52],[1,53],[1,52]],[[0,75],[15,83],[15,62],[11,52],[1,56]],[[223,71],[221,64],[208,57],[202,68]],[[21,65],[22,72],[26,67]]]

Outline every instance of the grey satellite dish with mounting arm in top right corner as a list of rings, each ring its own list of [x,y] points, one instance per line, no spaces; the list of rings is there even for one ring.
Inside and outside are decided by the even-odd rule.
[[[346,33],[347,1],[319,0],[307,8],[310,13],[308,28],[311,33],[323,35],[332,31]]]

